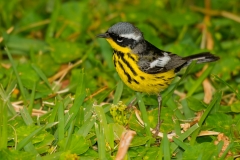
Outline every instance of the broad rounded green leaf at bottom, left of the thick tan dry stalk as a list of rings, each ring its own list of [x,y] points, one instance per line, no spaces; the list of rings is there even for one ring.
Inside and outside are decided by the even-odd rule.
[[[60,148],[64,148],[66,140],[67,138],[64,138],[63,140],[59,141],[58,145]],[[70,146],[68,147],[68,150],[70,151],[70,153],[76,153],[77,155],[85,153],[89,148],[86,139],[83,138],[83,136],[79,136],[76,134],[72,135],[69,144]]]

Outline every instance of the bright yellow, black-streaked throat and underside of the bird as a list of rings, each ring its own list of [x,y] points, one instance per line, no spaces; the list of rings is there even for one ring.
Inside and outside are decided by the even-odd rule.
[[[122,81],[132,90],[148,94],[159,94],[167,88],[175,73],[170,70],[164,73],[148,74],[140,70],[138,55],[128,47],[121,47],[111,39],[107,39],[114,49],[113,61]]]

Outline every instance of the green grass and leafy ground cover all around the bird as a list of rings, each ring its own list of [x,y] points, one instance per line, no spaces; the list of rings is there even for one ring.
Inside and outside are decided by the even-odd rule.
[[[238,1],[2,0],[0,10],[0,159],[115,159],[128,130],[125,159],[239,157]],[[159,136],[157,97],[125,86],[96,39],[119,21],[160,49],[220,57],[161,93]]]

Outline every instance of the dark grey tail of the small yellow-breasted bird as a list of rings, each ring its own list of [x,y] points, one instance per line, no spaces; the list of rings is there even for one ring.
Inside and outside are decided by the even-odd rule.
[[[183,58],[184,60],[186,60],[186,62],[184,64],[182,64],[181,66],[177,67],[175,69],[175,72],[180,71],[183,67],[186,67],[188,65],[191,64],[192,61],[196,61],[197,64],[199,63],[206,63],[206,62],[214,62],[217,61],[219,59],[219,57],[209,53],[209,52],[203,52],[203,53],[198,53],[198,54],[194,54],[191,56],[187,56]]]

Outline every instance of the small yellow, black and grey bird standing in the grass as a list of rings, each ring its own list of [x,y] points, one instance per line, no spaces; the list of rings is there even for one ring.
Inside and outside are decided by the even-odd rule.
[[[165,90],[182,68],[191,62],[214,62],[219,57],[202,52],[187,57],[161,50],[144,39],[143,33],[129,22],[118,22],[105,33],[104,38],[113,49],[113,63],[122,81],[132,90],[156,95],[158,100],[159,132],[161,125],[161,92]]]

